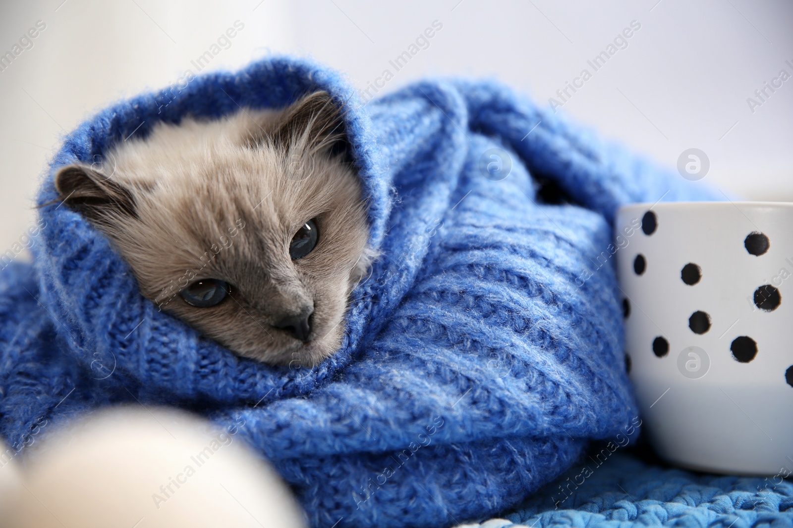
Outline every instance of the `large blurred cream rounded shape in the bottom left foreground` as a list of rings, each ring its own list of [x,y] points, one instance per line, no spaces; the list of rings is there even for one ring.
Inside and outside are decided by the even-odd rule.
[[[240,427],[162,409],[98,412],[31,446],[21,477],[0,468],[3,526],[305,526]]]

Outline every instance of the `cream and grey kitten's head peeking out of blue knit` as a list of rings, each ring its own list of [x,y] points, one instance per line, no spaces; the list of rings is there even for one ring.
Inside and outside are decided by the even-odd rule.
[[[59,169],[56,189],[144,297],[239,355],[311,367],[339,348],[374,258],[342,127],[326,92],[159,123],[109,152],[112,166]]]

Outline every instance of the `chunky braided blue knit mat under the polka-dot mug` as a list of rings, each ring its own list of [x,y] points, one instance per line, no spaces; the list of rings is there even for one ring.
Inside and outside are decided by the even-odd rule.
[[[598,464],[584,458],[503,519],[458,528],[793,526],[793,481],[781,475],[691,473],[629,453],[615,453]]]

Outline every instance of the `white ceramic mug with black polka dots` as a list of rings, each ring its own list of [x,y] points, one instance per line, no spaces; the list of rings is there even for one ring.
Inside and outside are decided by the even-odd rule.
[[[793,203],[640,203],[615,256],[626,367],[676,465],[793,474]]]

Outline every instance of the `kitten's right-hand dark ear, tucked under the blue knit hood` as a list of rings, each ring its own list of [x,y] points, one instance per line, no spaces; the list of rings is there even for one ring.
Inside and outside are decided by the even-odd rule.
[[[315,154],[346,139],[343,112],[328,92],[311,93],[285,110],[276,124],[275,144]]]

